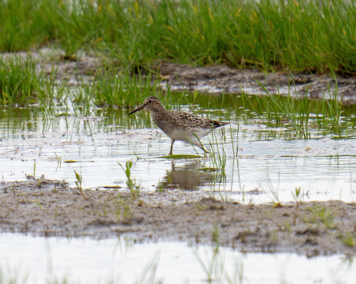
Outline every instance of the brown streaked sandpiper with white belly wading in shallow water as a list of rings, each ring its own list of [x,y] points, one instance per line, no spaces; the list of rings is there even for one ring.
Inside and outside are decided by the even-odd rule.
[[[143,105],[131,111],[129,115],[141,109],[149,109],[153,121],[171,138],[169,155],[172,155],[173,143],[176,140],[196,145],[205,153],[208,153],[199,140],[208,135],[211,130],[229,124],[229,122],[225,121],[205,119],[185,111],[165,110],[157,97],[146,98]]]

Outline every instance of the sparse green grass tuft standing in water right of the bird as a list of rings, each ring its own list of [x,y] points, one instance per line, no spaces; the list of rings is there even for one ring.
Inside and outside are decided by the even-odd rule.
[[[257,81],[266,95],[254,97],[252,100],[243,94],[244,103],[247,102],[245,107],[253,109],[262,120],[276,122],[277,126],[285,126],[287,121],[296,135],[304,139],[309,138],[309,129],[315,123],[319,129],[328,129],[341,136],[340,116],[343,110],[341,99],[338,97],[335,74],[334,79],[333,86],[328,85],[328,93],[324,94],[320,101],[308,99],[308,90],[298,93],[293,79],[292,87],[289,83],[286,96],[279,94],[278,89],[277,94],[269,93],[267,88]],[[315,114],[316,119],[310,121],[312,114]]]

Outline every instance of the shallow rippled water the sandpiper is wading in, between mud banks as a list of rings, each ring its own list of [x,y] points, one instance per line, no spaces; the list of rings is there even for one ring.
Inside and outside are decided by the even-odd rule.
[[[238,95],[225,95],[223,102],[222,96],[201,95],[199,104],[191,96],[187,102],[197,114],[235,122],[202,139],[205,146],[212,143],[210,151],[215,152],[206,159],[155,158],[168,154],[170,139],[146,111],[127,117],[129,110],[98,109],[89,119],[45,120],[38,108],[31,107],[0,112],[0,174],[4,181],[25,180],[35,170],[36,177],[65,179],[75,186],[76,170],[82,173],[85,188],[117,185],[125,190],[126,175],[118,163],[125,165],[132,159],[131,177],[143,190],[179,187],[260,203],[293,201],[292,192],[300,187],[305,201],[355,200],[356,131],[350,127],[354,108],[342,113],[340,132],[309,129],[305,140],[288,124],[261,121]],[[189,110],[189,106],[180,109]],[[219,159],[224,151],[226,158]],[[202,154],[198,148],[197,152]],[[145,159],[137,159],[135,153]],[[179,141],[173,153],[197,154]],[[199,170],[220,168],[219,160],[226,160],[225,174]]]

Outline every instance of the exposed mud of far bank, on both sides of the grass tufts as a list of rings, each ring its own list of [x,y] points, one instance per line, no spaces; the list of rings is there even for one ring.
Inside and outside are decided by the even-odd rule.
[[[26,52],[19,53],[26,57]],[[80,84],[81,81],[92,81],[94,75],[105,67],[115,64],[115,59],[105,56],[88,54],[85,51],[78,53],[78,61],[64,60],[64,53],[57,49],[42,48],[32,51],[30,55],[37,60],[38,72],[44,72],[53,76],[56,71],[57,83],[61,81],[68,84]],[[2,54],[4,58],[9,53]],[[308,98],[322,99],[324,96],[333,96],[335,80],[329,74],[310,74],[274,72],[265,73],[258,69],[233,69],[225,65],[195,67],[168,62],[156,62],[150,66],[132,67],[132,72],[145,74],[147,70],[156,70],[162,80],[162,86],[171,85],[171,90],[208,93],[241,93],[265,95],[266,92],[260,87],[258,80],[266,86],[269,93],[278,92],[286,95],[289,90],[294,96],[304,97],[307,92]],[[79,77],[78,77],[79,75]],[[79,78],[79,82],[78,82]],[[294,81],[294,85],[293,85]],[[337,76],[338,97],[345,105],[356,103],[356,76]],[[328,90],[330,86],[331,93]]]

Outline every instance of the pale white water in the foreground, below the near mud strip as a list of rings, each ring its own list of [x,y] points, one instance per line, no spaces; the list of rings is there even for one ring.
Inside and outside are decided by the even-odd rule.
[[[184,243],[137,244],[129,237],[93,240],[0,235],[3,279],[17,283],[353,283],[353,258],[241,253]],[[26,277],[28,275],[28,277]],[[63,281],[64,280],[64,281]],[[231,282],[229,282],[231,283]]]

